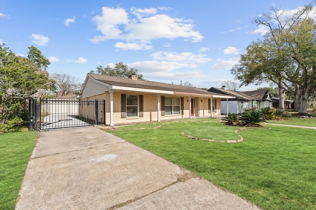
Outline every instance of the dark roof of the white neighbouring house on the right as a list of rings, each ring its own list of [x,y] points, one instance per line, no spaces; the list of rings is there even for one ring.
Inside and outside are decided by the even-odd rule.
[[[254,90],[254,91],[234,91],[234,90],[225,90],[221,88],[214,88],[211,87],[207,91],[212,93],[219,93],[219,94],[227,94],[230,96],[235,96],[234,101],[267,101],[269,92],[267,90]],[[270,101],[270,100],[268,100]]]

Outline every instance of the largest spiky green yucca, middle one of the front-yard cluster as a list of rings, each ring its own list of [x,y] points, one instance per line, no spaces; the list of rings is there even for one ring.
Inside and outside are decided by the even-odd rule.
[[[257,110],[245,111],[240,117],[240,124],[245,127],[261,127],[259,123],[265,121],[263,114]]]

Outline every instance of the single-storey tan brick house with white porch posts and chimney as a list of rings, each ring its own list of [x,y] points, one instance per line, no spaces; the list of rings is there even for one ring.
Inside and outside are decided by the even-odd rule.
[[[105,100],[106,124],[114,126],[193,116],[212,117],[221,114],[221,99],[234,97],[195,87],[138,80],[137,75],[121,78],[88,73],[80,98]]]

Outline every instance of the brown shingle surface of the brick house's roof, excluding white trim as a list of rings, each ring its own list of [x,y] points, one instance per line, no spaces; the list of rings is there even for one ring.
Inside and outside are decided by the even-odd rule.
[[[210,92],[207,92],[205,90],[202,90],[196,87],[188,87],[188,86],[153,82],[153,81],[147,81],[147,80],[133,80],[130,78],[122,78],[122,77],[100,75],[100,74],[93,74],[93,73],[88,73],[88,75],[92,76],[94,79],[100,82],[104,82],[104,83],[115,85],[115,86],[213,95]]]

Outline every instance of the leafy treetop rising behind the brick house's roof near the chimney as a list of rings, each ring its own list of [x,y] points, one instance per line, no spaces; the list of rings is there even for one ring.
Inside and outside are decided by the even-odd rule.
[[[115,64],[114,68],[111,68],[109,65],[107,67],[98,66],[96,71],[91,70],[90,73],[98,73],[103,75],[110,75],[110,76],[118,76],[118,77],[125,77],[128,78],[131,74],[137,74],[138,79],[144,80],[143,74],[139,74],[137,69],[130,68],[128,69],[128,65],[119,62]]]

